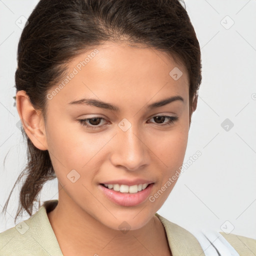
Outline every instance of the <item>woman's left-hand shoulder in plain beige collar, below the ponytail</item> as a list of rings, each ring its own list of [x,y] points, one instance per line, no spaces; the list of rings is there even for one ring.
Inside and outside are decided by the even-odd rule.
[[[51,205],[54,201],[50,201]],[[49,223],[45,204],[30,218],[0,233],[0,256],[28,254],[62,255]]]

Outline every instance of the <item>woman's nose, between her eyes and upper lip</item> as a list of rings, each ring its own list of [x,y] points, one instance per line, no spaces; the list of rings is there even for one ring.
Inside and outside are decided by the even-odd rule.
[[[110,154],[111,163],[128,170],[137,170],[149,164],[149,149],[142,133],[133,125],[126,131],[118,130],[114,136],[114,146]]]

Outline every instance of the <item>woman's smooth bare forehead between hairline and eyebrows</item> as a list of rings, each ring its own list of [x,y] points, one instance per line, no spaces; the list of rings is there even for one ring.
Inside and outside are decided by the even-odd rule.
[[[69,62],[67,75],[54,96],[65,104],[82,97],[115,100],[121,105],[173,95],[186,100],[188,96],[188,75],[182,64],[166,52],[125,43],[106,42],[80,53]]]

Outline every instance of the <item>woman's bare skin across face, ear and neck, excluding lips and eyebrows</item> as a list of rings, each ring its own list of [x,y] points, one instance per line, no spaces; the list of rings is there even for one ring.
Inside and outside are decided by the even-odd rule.
[[[86,66],[47,99],[46,122],[24,91],[16,94],[26,134],[37,148],[49,151],[58,179],[59,201],[48,213],[50,224],[64,255],[113,255],[116,251],[171,255],[163,225],[154,214],[177,180],[154,202],[147,198],[136,206],[113,203],[98,186],[116,178],[145,178],[154,182],[151,196],[182,165],[190,126],[187,71],[167,53],[151,48],[114,42],[95,48],[98,53]],[[91,51],[73,58],[68,73]],[[169,75],[174,67],[183,73],[178,80]],[[176,95],[183,102],[146,109],[150,103]],[[114,104],[120,112],[68,104],[83,97]],[[178,120],[161,126],[152,118],[157,115],[177,116]],[[97,124],[87,121],[97,129],[77,121],[94,116],[104,118],[96,120]],[[123,118],[131,123],[125,132],[118,126]],[[80,175],[75,182],[67,178],[72,169]],[[126,233],[118,228],[123,221],[130,225]]]

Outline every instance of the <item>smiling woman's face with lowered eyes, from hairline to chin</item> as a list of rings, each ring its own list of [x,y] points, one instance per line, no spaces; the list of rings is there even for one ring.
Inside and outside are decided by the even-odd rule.
[[[175,67],[178,79],[169,74]],[[123,221],[140,228],[166,200],[183,162],[187,71],[164,52],[108,42],[73,58],[68,75],[48,91],[44,124],[59,203],[113,229]],[[140,183],[151,184],[135,193]]]

